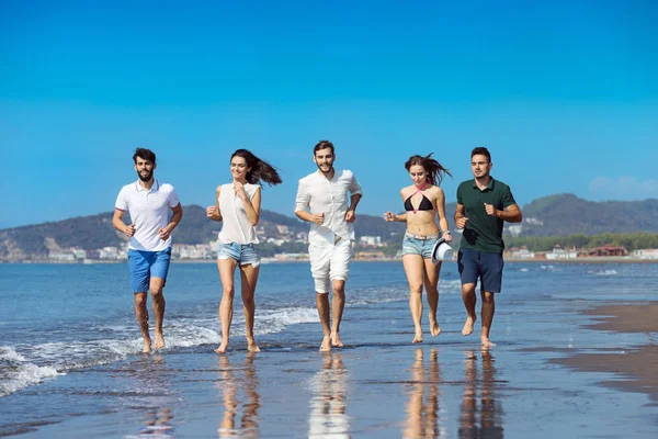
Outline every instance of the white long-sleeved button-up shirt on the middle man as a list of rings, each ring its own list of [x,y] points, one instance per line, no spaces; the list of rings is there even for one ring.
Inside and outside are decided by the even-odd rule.
[[[350,196],[362,193],[361,185],[349,170],[337,170],[331,180],[319,170],[299,180],[295,212],[310,209],[314,215],[325,214],[322,225],[310,223],[310,244],[333,246],[338,237],[354,240],[354,225],[345,221],[349,207],[348,192]]]

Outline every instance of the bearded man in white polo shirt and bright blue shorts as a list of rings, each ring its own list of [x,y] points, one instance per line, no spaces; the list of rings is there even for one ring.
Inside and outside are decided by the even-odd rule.
[[[136,182],[126,184],[116,198],[112,225],[131,237],[128,267],[131,284],[135,294],[135,315],[144,338],[143,352],[151,350],[148,333],[146,293],[151,293],[151,306],[156,318],[155,348],[164,347],[162,320],[164,319],[164,295],[162,289],[171,258],[171,232],[183,217],[183,209],[171,184],[160,183],[154,178],[156,155],[150,149],[137,148],[133,156]],[[173,211],[169,218],[169,210]],[[123,216],[131,215],[131,225]]]

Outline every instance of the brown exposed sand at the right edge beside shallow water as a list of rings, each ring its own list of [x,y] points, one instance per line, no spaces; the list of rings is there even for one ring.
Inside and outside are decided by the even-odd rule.
[[[597,323],[587,325],[595,330],[614,333],[657,333],[658,302],[644,304],[602,305],[586,309],[582,314],[593,316]],[[649,395],[658,405],[658,345],[636,348],[606,349],[605,352],[578,353],[555,359],[553,362],[582,372],[608,372],[622,375],[623,380],[604,381],[602,384],[628,392]]]

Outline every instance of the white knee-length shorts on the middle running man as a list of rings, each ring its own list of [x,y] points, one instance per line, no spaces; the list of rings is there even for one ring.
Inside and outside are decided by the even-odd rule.
[[[326,294],[331,291],[330,281],[348,280],[352,241],[343,238],[333,246],[328,247],[311,244],[308,246],[308,257],[316,292]]]

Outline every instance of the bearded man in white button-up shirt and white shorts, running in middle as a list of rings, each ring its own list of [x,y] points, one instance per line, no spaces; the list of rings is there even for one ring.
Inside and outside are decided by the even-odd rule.
[[[333,169],[333,144],[320,140],[314,148],[316,172],[299,180],[295,215],[310,223],[308,255],[315,280],[316,304],[325,337],[320,351],[342,347],[340,320],[345,305],[352,241],[354,240],[354,211],[361,200],[361,185],[351,171]],[[348,205],[348,192],[350,204]],[[329,286],[333,291],[331,322],[329,318]]]

